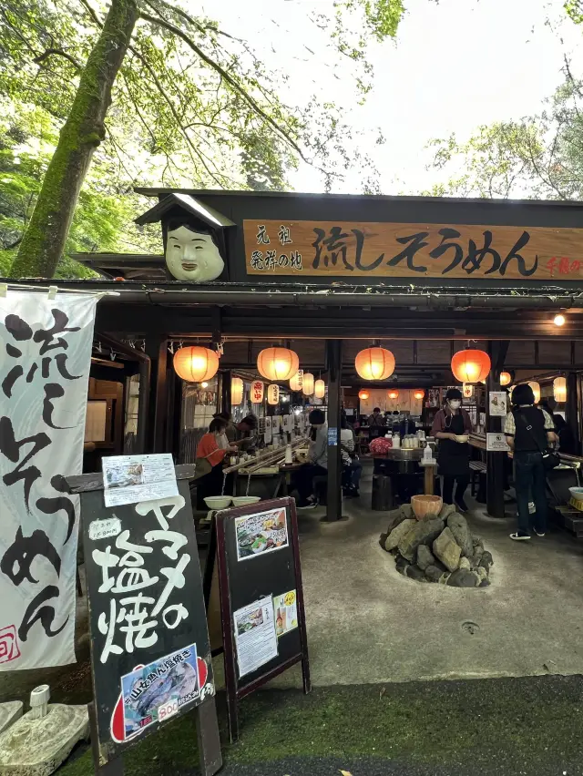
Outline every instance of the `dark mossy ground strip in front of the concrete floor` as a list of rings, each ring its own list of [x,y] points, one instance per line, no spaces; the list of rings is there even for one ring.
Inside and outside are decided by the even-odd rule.
[[[266,690],[240,703],[240,741],[227,743],[226,762],[283,758],[378,757],[412,764],[466,765],[468,772],[509,761],[532,770],[577,761],[583,750],[583,700],[578,677],[488,679],[403,685]],[[180,773],[198,766],[193,720],[170,723],[128,750],[130,776]],[[90,752],[66,763],[66,776],[92,772]],[[506,771],[505,771],[506,772]],[[516,772],[519,772],[518,770]]]

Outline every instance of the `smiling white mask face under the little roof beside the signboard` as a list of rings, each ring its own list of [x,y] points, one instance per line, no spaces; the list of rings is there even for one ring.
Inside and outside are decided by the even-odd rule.
[[[216,280],[225,262],[210,234],[179,226],[168,232],[166,266],[177,281],[203,283]]]

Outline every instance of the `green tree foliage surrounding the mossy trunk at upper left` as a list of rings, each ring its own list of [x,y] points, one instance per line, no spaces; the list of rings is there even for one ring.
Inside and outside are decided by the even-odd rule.
[[[363,188],[375,189],[373,163],[351,148],[339,108],[316,97],[303,109],[285,104],[280,94],[286,77],[270,72],[246,41],[203,15],[191,15],[189,7],[185,0],[142,0],[113,85],[105,138],[99,133],[78,138],[103,143],[66,250],[114,250],[120,240],[143,244],[129,226],[129,200],[120,199],[137,183],[289,189],[287,175],[303,159],[322,171],[327,188],[355,166],[363,169]],[[353,60],[355,83],[365,94],[371,76],[366,47],[370,40],[395,35],[403,2],[336,0],[332,8],[332,15],[308,16],[306,22],[327,32],[331,52]],[[43,138],[43,148],[28,153],[26,164],[21,158],[20,169],[5,169],[12,179],[6,177],[2,186],[13,209],[3,214],[4,266],[30,220],[106,13],[106,0],[5,0],[0,9],[0,94],[16,112],[43,111],[52,133]],[[19,121],[15,117],[16,125]],[[37,130],[29,128],[27,138],[38,138]],[[54,190],[47,187],[49,200]],[[44,202],[43,212],[50,212],[50,205]],[[40,233],[37,237],[42,241]],[[62,260],[59,272],[70,270],[70,262]]]

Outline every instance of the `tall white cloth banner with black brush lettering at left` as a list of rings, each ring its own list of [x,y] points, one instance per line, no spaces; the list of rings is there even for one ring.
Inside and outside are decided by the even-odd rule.
[[[0,670],[75,662],[79,497],[97,297],[0,297]]]

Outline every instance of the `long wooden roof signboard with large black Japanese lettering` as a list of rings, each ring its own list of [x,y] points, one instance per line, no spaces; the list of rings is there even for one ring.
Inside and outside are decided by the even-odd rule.
[[[579,281],[583,229],[243,220],[252,275]]]

